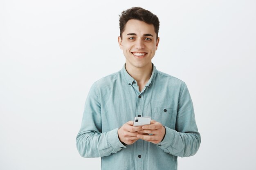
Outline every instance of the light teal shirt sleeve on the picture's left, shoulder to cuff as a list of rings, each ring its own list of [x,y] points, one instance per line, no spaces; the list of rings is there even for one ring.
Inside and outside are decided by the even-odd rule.
[[[96,83],[92,85],[88,93],[81,128],[76,136],[76,148],[79,154],[88,158],[108,156],[126,148],[119,141],[118,128],[102,132],[101,104]]]

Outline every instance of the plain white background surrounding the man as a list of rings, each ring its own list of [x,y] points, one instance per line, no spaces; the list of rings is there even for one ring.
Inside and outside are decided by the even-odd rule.
[[[119,14],[160,20],[153,63],[188,86],[202,143],[179,170],[256,168],[254,0],[0,0],[0,169],[100,170],[76,150],[97,79],[119,71]]]

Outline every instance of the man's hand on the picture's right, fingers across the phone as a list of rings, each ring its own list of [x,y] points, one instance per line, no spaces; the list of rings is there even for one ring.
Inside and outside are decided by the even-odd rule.
[[[139,133],[148,133],[148,134],[153,134],[153,135],[142,135],[138,134],[137,138],[143,139],[145,141],[152,142],[153,144],[158,144],[162,141],[165,135],[165,128],[164,126],[155,121],[151,120],[150,125],[143,125],[142,126],[143,130],[139,130]]]

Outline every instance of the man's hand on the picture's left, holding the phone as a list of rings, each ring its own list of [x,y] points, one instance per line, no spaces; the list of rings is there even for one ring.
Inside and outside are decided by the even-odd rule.
[[[142,126],[133,126],[133,121],[128,121],[118,129],[118,138],[121,142],[131,145],[139,139],[137,138],[139,130],[143,130]]]

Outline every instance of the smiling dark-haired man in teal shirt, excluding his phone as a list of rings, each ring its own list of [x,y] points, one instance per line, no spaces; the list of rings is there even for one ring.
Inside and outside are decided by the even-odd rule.
[[[126,63],[92,85],[77,149],[82,157],[101,157],[102,170],[177,170],[177,156],[194,155],[201,141],[188,88],[151,63],[159,44],[156,15],[134,7],[119,24]],[[150,125],[133,126],[134,117],[144,116]]]

